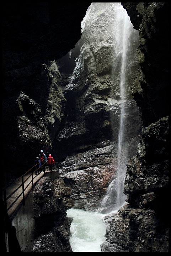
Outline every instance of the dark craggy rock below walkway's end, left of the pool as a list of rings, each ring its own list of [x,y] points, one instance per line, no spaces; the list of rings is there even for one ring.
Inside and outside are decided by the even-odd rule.
[[[72,218],[66,210],[73,207],[70,188],[62,178],[41,178],[34,188],[33,204],[36,239],[33,252],[72,251],[69,230]]]

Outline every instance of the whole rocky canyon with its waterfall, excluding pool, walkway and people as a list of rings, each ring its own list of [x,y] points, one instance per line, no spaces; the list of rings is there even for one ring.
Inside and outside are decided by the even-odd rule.
[[[71,208],[105,214],[102,252],[169,251],[168,11],[5,3],[3,187],[40,150],[59,163],[34,188],[33,252],[73,251]]]

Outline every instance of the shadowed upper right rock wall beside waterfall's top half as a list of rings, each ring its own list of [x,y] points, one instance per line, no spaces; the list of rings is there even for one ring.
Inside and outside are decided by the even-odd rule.
[[[141,70],[133,96],[142,113],[144,127],[169,115],[168,108],[168,3],[122,3],[139,30],[137,51]]]

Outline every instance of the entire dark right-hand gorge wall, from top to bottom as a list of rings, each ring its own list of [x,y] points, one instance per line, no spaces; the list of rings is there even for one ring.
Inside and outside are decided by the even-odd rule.
[[[167,3],[122,3],[139,30],[141,70],[133,85],[144,129],[137,154],[127,163],[124,193],[128,205],[107,216],[102,251],[168,252],[169,194],[167,107]],[[162,37],[162,38],[161,38]],[[161,38],[161,41],[159,40]]]

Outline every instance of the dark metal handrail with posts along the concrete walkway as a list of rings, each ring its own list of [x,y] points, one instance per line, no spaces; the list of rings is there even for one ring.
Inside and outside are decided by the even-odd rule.
[[[44,159],[42,160],[42,161],[40,161],[40,162],[44,162]],[[51,163],[52,163],[52,161],[51,161]],[[57,164],[58,164],[58,162],[56,162]],[[15,202],[18,200],[18,198],[20,198],[20,196],[23,194],[23,205],[25,205],[25,190],[27,189],[27,187],[32,183],[32,188],[33,188],[33,186],[34,186],[34,183],[33,183],[33,180],[38,176],[38,174],[39,173],[41,173],[41,172],[43,172],[44,171],[44,174],[45,174],[45,162],[42,164],[42,166],[43,166],[43,169],[36,175],[36,176],[34,176],[34,178],[33,178],[33,173],[34,172],[37,172],[38,171],[38,169],[40,169],[41,167],[39,167],[39,168],[37,168],[35,171],[33,171],[32,169],[35,167],[35,166],[37,166],[39,163],[37,163],[37,164],[35,164],[32,168],[30,168],[25,174],[23,174],[21,177],[19,177],[19,178],[17,178],[13,183],[11,183],[10,185],[8,185],[8,186],[6,186],[4,189],[2,189],[2,192],[4,192],[4,201],[3,201],[3,203],[4,203],[4,205],[5,205],[5,208],[6,208],[6,210],[7,211],[9,211],[9,209],[12,207],[12,205],[14,205],[15,204]],[[53,167],[54,167],[54,164],[53,164]],[[32,171],[31,171],[32,170]],[[28,172],[32,172],[31,174],[30,174],[30,176],[28,176],[27,177],[27,179],[24,181],[24,176],[28,173]],[[53,171],[55,171],[55,170],[53,170]],[[58,165],[58,171],[59,171],[59,165]],[[52,169],[51,169],[51,173],[52,173]],[[24,183],[30,178],[32,176],[32,179],[31,179],[31,181],[27,184],[27,186],[24,188]],[[19,179],[22,179],[22,183],[8,196],[8,197],[6,197],[6,189],[9,187],[9,186],[11,186],[12,184],[14,184],[16,181],[18,181]],[[7,200],[9,199],[9,198],[11,198],[11,196],[20,188],[22,186],[22,192],[20,193],[20,195],[18,195],[18,197],[14,200],[14,202],[9,206],[9,208],[7,208]]]

